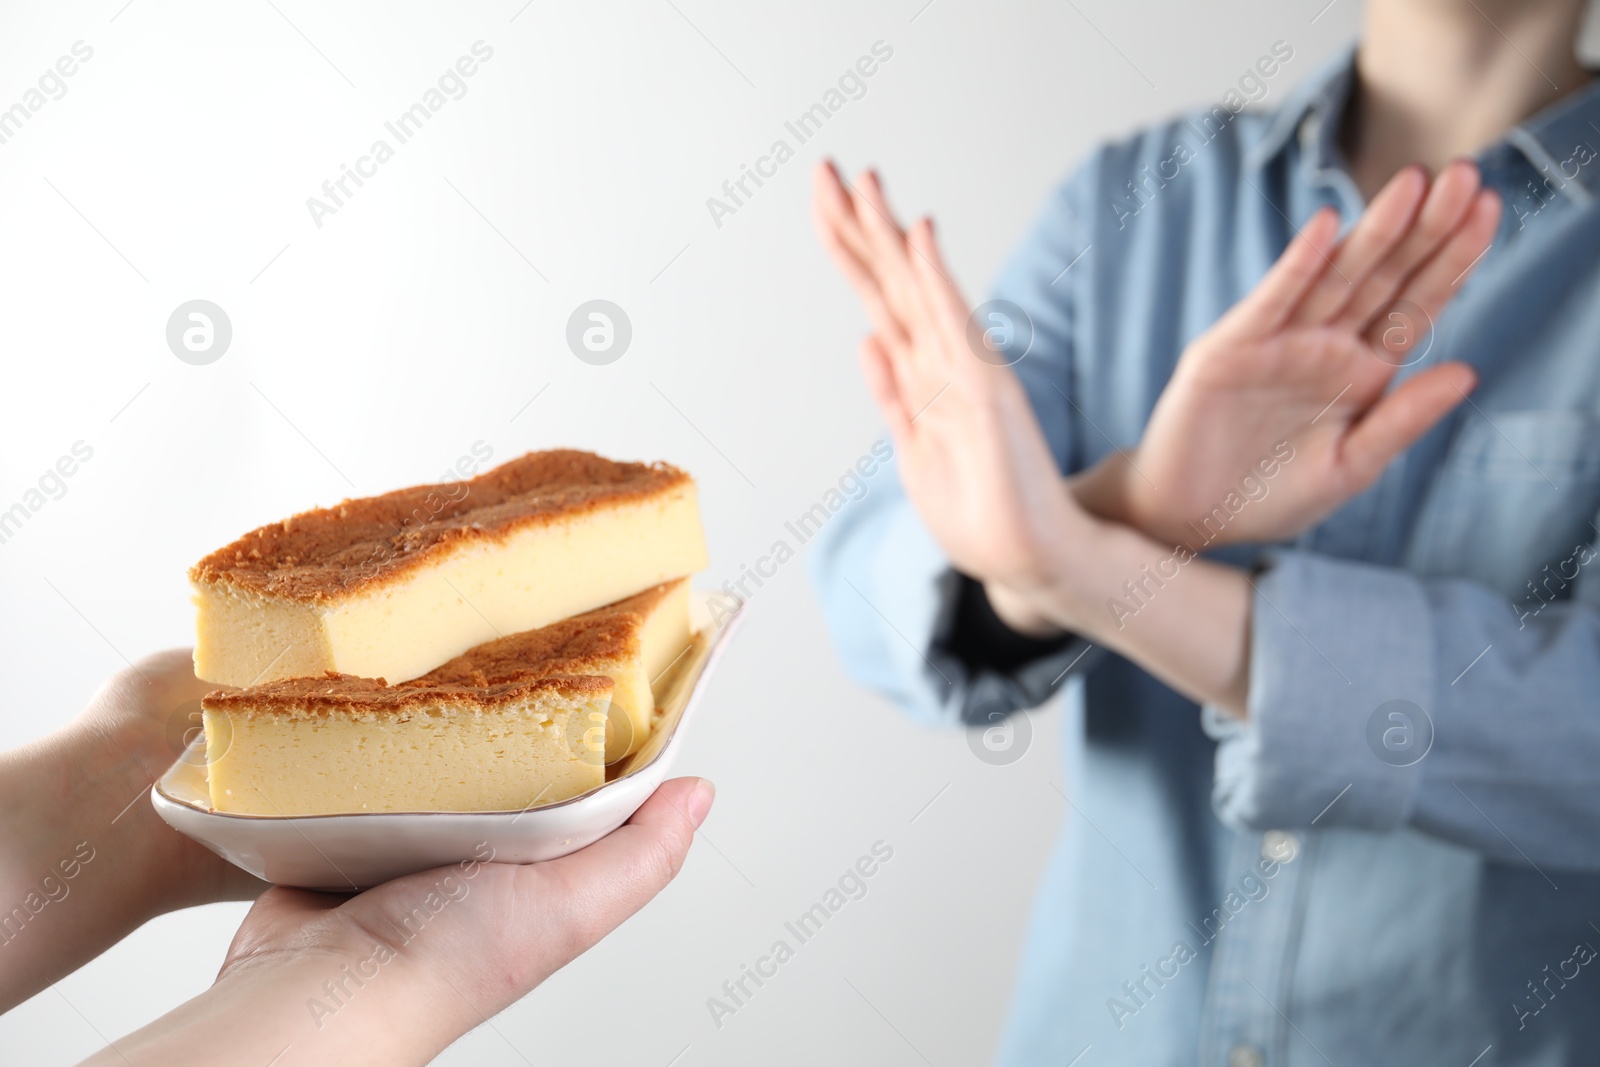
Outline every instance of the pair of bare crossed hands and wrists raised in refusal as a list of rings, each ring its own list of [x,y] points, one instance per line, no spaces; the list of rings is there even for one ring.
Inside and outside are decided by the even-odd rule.
[[[1458,405],[1474,386],[1459,363],[1386,392],[1418,339],[1414,330],[1397,336],[1390,315],[1437,315],[1499,219],[1470,163],[1434,181],[1402,171],[1344,240],[1338,218],[1318,213],[1189,346],[1138,448],[1062,480],[1018,376],[974,350],[931,221],[902,229],[875,174],[846,187],[826,163],[813,208],[872,322],[861,366],[906,493],[950,563],[982,582],[1013,629],[1070,630],[1240,717],[1248,574],[1190,550],[1184,579],[1141,608],[1136,625],[1107,603],[1182,552],[1187,523],[1275,446],[1294,450],[1296,477],[1224,539],[1282,539],[1314,525]]]

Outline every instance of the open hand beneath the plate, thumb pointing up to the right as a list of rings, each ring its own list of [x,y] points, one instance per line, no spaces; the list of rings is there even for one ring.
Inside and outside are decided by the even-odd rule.
[[[210,990],[88,1062],[427,1064],[656,896],[712,795],[664,782],[616,832],[541,864],[483,846],[355,896],[269,889]]]

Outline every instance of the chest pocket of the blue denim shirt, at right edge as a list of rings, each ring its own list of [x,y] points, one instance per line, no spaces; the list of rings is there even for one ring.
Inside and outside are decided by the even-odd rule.
[[[1550,573],[1573,577],[1581,545],[1600,534],[1600,419],[1589,411],[1467,411],[1440,467],[1410,569],[1466,577],[1530,597]],[[1562,598],[1571,589],[1547,589]],[[1550,592],[1544,597],[1549,598]]]

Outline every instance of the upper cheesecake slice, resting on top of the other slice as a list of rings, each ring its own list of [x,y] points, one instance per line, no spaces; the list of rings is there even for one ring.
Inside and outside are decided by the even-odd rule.
[[[190,571],[195,673],[402,681],[706,566],[694,482],[546,451],[254,530]]]

